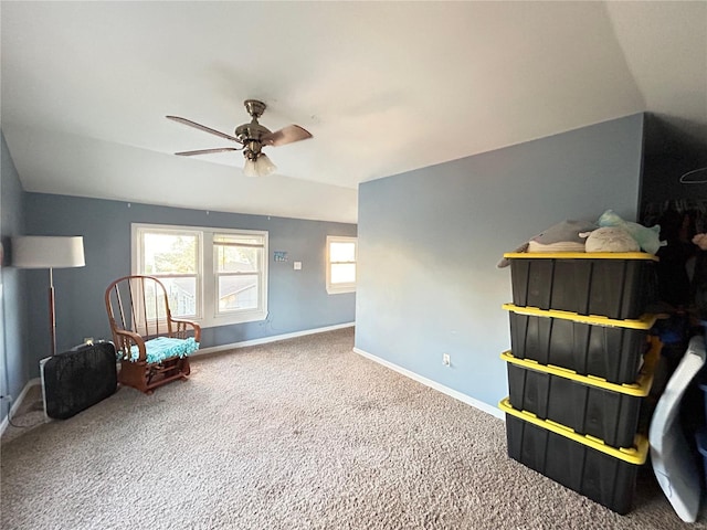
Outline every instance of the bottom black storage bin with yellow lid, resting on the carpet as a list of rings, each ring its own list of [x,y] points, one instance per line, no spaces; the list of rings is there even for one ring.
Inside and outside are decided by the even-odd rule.
[[[644,436],[631,449],[609,448],[519,412],[507,400],[499,407],[506,412],[508,456],[618,513],[631,510],[648,452]]]

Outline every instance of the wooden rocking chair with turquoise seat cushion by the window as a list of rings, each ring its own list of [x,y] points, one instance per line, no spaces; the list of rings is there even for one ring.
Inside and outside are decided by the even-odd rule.
[[[190,373],[188,356],[199,349],[201,328],[172,318],[165,285],[152,276],[125,276],[105,294],[118,382],[146,394]]]

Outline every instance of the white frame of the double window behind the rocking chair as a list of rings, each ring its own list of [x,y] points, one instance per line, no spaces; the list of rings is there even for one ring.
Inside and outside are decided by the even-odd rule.
[[[198,234],[199,236],[199,248],[197,252],[197,316],[187,318],[197,321],[202,328],[230,326],[233,324],[254,322],[267,319],[267,231],[133,223],[130,236],[133,274],[145,274],[144,234],[146,233]],[[218,275],[214,259],[215,246],[213,244],[215,234],[242,235],[261,239],[263,246],[263,259],[258,274],[260,290],[257,308],[232,311],[219,310],[219,286],[217,282]],[[159,275],[155,276],[159,277]]]

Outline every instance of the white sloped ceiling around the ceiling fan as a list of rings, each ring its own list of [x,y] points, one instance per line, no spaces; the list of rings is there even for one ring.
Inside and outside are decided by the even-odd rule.
[[[707,138],[707,2],[2,1],[1,127],[27,191],[357,220],[357,186],[640,112]],[[246,98],[276,174],[232,134]],[[232,144],[231,144],[232,145]]]

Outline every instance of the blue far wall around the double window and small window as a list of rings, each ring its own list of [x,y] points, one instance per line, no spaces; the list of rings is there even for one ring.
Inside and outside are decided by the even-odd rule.
[[[355,294],[327,295],[327,235],[356,235],[356,225],[235,213],[204,212],[119,201],[27,193],[27,233],[83,235],[86,266],[54,271],[56,342],[61,351],[84,337],[109,338],[105,288],[130,273],[130,223],[178,224],[270,233],[266,321],[204,328],[204,348],[316,329],[355,320]],[[274,263],[273,251],[289,262]],[[302,271],[293,262],[303,262]],[[45,271],[27,271],[32,367],[49,352]],[[43,330],[48,330],[46,333]]]

